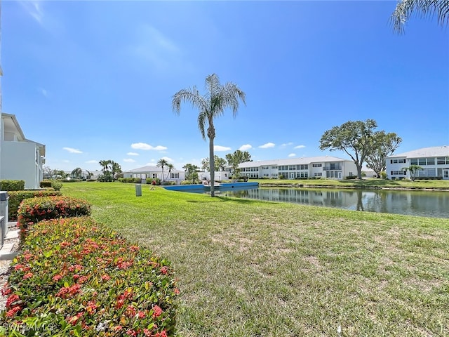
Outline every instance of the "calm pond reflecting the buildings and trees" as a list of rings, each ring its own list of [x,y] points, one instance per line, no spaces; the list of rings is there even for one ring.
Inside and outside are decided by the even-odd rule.
[[[260,187],[220,190],[217,195],[356,211],[449,218],[449,192],[445,191]]]

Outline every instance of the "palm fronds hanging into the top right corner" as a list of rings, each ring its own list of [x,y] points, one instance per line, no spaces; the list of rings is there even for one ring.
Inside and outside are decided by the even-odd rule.
[[[441,26],[449,23],[449,0],[401,0],[390,18],[394,31],[402,34],[404,24],[415,11],[420,12],[423,17],[436,13]]]

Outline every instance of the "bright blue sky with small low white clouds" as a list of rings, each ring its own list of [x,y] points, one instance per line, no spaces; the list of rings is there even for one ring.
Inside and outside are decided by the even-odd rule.
[[[208,157],[198,112],[171,99],[216,73],[246,93],[215,120],[215,154],[333,155],[323,133],[375,119],[396,153],[449,145],[449,28],[396,1],[2,1],[3,112],[46,145],[46,165],[123,171]]]

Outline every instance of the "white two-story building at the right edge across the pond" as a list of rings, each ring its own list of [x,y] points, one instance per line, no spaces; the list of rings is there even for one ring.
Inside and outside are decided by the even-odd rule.
[[[424,147],[387,157],[387,176],[390,179],[410,178],[411,165],[421,166],[416,178],[449,179],[449,146]]]

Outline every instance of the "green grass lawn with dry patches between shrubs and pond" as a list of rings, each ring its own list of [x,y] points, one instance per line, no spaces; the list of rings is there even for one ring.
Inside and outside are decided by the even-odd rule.
[[[448,219],[142,187],[61,191],[172,261],[178,336],[449,336]]]

